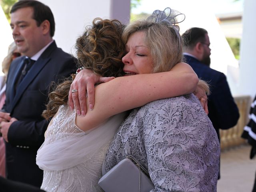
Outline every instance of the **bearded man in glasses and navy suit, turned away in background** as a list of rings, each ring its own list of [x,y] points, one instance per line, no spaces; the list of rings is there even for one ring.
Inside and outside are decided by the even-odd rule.
[[[235,126],[239,118],[238,108],[231,95],[226,76],[210,68],[210,40],[205,29],[190,28],[182,34],[182,39],[185,62],[193,68],[198,78],[210,84],[208,116],[220,140],[219,129]]]

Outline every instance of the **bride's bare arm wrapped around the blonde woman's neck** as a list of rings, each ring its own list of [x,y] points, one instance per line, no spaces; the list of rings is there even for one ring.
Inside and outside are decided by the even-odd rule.
[[[198,78],[185,63],[177,64],[169,72],[118,77],[95,88],[95,105],[86,116],[77,116],[76,123],[88,130],[110,116],[148,102],[188,94],[196,89]],[[88,100],[87,100],[88,102]]]

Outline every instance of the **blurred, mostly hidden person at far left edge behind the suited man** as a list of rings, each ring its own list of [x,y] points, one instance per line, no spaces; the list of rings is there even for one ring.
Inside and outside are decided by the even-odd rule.
[[[15,42],[12,42],[8,48],[8,54],[2,62],[3,76],[0,76],[0,108],[3,107],[5,101],[6,79],[12,60],[19,57],[21,54],[18,52]],[[5,144],[4,139],[0,137],[0,176],[5,177]]]

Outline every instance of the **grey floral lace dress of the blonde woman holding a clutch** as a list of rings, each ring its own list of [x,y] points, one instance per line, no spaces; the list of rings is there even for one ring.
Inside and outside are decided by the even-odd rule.
[[[134,109],[110,144],[105,171],[129,154],[148,169],[151,192],[216,192],[220,145],[194,94]]]

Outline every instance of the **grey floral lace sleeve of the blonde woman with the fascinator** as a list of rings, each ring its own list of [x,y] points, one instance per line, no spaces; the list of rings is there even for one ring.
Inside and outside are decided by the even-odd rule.
[[[144,145],[151,192],[216,191],[220,146],[194,95],[144,106]]]

